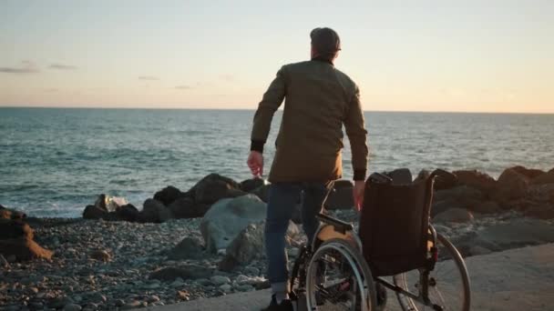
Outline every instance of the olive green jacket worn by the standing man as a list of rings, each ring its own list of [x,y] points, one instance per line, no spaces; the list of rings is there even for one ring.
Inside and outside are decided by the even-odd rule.
[[[283,65],[254,115],[251,150],[262,152],[272,117],[282,123],[269,180],[328,182],[343,175],[343,125],[352,147],[354,180],[364,180],[367,131],[358,86],[331,63],[314,59]]]

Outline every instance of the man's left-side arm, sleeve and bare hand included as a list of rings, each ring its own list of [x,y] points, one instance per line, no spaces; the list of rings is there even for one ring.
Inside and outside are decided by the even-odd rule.
[[[282,104],[285,94],[284,69],[285,67],[282,66],[277,72],[277,76],[263,95],[262,102],[258,105],[256,114],[254,114],[254,124],[252,125],[251,133],[251,152],[247,160],[253,176],[262,176],[263,174],[263,145],[270,133],[273,114]]]

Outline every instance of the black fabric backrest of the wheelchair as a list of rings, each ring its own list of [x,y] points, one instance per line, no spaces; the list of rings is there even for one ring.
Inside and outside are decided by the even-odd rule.
[[[405,176],[365,182],[359,236],[374,276],[392,276],[426,265],[433,177]],[[395,175],[392,175],[395,179]]]

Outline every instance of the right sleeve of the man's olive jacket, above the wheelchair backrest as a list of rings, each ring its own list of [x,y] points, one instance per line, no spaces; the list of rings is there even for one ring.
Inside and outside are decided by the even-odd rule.
[[[344,119],[344,128],[352,149],[354,180],[365,180],[368,155],[367,131],[364,124],[364,112],[360,104],[360,90],[357,85],[354,86],[354,95],[350,100],[350,108]]]

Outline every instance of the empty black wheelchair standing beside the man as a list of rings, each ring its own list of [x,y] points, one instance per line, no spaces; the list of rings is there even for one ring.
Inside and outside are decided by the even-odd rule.
[[[464,259],[429,222],[436,179],[455,178],[443,170],[414,182],[411,174],[374,173],[365,182],[357,233],[353,224],[320,214],[312,246],[301,248],[292,267],[297,311],[383,310],[385,288],[405,311],[469,310]]]

